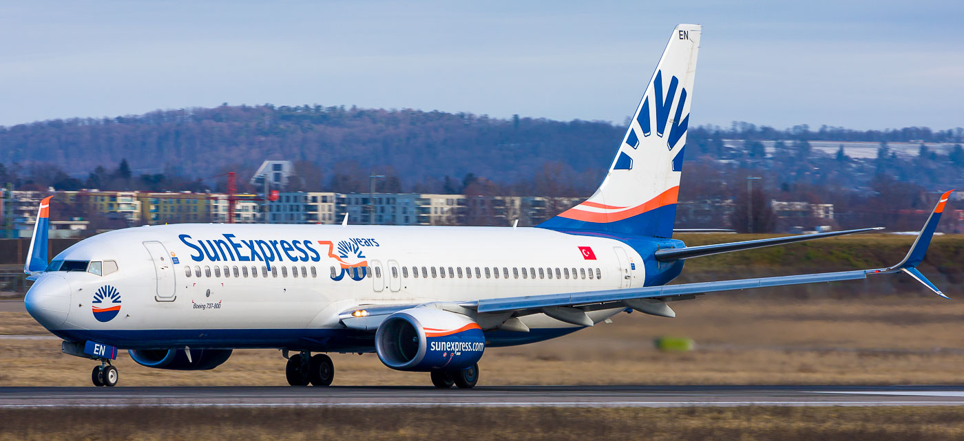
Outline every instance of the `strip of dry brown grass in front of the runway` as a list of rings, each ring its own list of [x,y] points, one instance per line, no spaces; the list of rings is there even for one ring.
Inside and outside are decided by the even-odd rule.
[[[960,407],[165,407],[0,411],[0,441],[944,441],[962,437],[964,410]]]

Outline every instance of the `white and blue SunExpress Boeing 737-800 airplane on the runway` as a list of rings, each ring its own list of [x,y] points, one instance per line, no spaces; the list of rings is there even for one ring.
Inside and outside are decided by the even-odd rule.
[[[903,272],[947,298],[917,266],[951,192],[897,265],[668,284],[687,259],[872,231],[685,246],[673,239],[699,25],[678,25],[599,189],[534,227],[170,224],[110,231],[48,262],[50,197],[24,265],[24,303],[98,362],[114,386],[119,350],[148,368],[210,370],[235,349],[281,350],[293,386],[328,386],[329,352],[377,354],[468,389],[489,348],[601,324],[621,312],[675,317],[672,301],[711,293]]]

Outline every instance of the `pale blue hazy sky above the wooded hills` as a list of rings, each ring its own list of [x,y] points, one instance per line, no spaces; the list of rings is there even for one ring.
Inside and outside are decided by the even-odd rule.
[[[964,126],[964,2],[0,3],[0,125],[222,103],[622,124],[677,23],[690,124]]]

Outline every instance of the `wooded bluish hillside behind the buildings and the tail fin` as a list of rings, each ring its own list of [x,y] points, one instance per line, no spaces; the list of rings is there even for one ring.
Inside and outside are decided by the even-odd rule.
[[[580,196],[596,188],[624,133],[625,125],[606,121],[226,104],[0,127],[0,182],[21,189],[224,191],[223,179],[204,178],[233,170],[241,190],[256,191],[246,184],[254,169],[265,159],[285,159],[300,177],[292,190],[366,192],[367,175],[376,171],[388,176],[379,184],[383,192]],[[813,148],[816,142],[842,144],[828,154]],[[876,156],[851,158],[847,142],[877,145]],[[909,156],[889,145],[911,142],[920,146]],[[912,228],[917,220],[899,210],[928,209],[933,192],[964,188],[962,142],[961,128],[691,127],[680,197],[734,197],[736,217],[744,216],[738,226],[745,221],[745,178],[761,176],[754,206],[768,199],[833,203],[840,226]]]

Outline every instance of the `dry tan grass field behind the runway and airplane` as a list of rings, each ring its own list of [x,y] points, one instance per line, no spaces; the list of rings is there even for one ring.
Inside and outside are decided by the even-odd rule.
[[[953,295],[949,287],[948,292]],[[673,304],[678,317],[620,314],[535,345],[486,350],[479,384],[964,383],[964,301],[921,295],[788,299],[718,294]],[[25,313],[0,313],[0,334],[49,335]],[[695,350],[661,352],[658,336]],[[427,385],[374,354],[333,354],[338,385]],[[121,352],[120,386],[283,385],[278,350],[236,350],[207,372],[136,365]],[[0,386],[89,385],[94,362],[56,339],[0,338]]]

